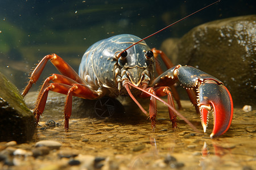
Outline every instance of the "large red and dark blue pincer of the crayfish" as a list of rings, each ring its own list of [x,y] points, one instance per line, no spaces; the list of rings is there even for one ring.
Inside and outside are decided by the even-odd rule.
[[[224,134],[233,117],[233,101],[223,84],[204,82],[199,86],[199,108],[204,132],[207,129],[209,112],[213,113],[214,126],[210,137]]]

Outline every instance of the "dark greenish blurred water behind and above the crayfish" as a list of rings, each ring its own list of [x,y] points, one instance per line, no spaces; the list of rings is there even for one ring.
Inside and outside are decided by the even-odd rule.
[[[75,70],[94,42],[121,33],[146,37],[214,1],[1,1],[0,71],[22,89],[46,54],[57,53]],[[159,48],[211,20],[255,14],[255,1],[221,1],[151,37]],[[42,78],[57,73],[48,64]],[[42,82],[43,79],[39,79]],[[38,83],[39,85],[40,83]]]

